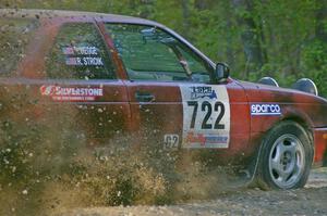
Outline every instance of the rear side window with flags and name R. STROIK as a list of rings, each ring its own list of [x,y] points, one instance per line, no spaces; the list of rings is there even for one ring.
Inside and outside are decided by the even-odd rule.
[[[114,67],[96,26],[70,23],[60,27],[46,58],[49,78],[113,79]]]

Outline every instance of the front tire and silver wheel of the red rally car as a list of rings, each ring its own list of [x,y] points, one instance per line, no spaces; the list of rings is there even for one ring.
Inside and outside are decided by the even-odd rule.
[[[262,189],[302,188],[313,163],[313,144],[305,129],[286,120],[274,127],[263,141],[257,166]]]

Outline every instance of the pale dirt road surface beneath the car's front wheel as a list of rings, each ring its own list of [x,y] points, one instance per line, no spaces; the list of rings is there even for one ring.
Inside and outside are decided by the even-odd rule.
[[[239,189],[222,192],[210,201],[192,201],[169,206],[71,209],[62,215],[327,215],[327,168],[312,171],[308,183],[301,190]]]

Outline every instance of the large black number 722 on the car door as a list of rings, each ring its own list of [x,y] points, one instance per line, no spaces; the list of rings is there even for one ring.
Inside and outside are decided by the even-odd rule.
[[[206,112],[204,119],[202,122],[202,126],[201,126],[202,129],[225,129],[225,125],[220,124],[220,122],[225,115],[225,105],[220,101],[217,101],[215,104],[211,104],[208,101],[203,101],[203,102],[187,101],[187,105],[193,106],[191,129],[194,129],[194,127],[195,127],[198,106],[201,106],[202,112]],[[215,120],[215,125],[208,123],[208,120],[210,119],[210,117],[213,115],[213,112],[218,112],[218,116]]]

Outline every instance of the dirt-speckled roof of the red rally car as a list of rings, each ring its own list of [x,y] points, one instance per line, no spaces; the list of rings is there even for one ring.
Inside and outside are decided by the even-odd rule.
[[[53,17],[61,18],[96,18],[105,22],[119,22],[119,23],[134,23],[143,25],[154,25],[162,26],[159,23],[148,21],[145,18],[126,16],[126,15],[116,15],[116,14],[106,14],[106,13],[96,13],[96,12],[85,12],[85,11],[65,11],[65,10],[37,10],[37,9],[0,9],[0,17],[29,17],[29,18],[41,18],[48,20]]]

